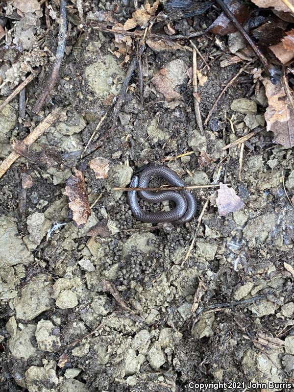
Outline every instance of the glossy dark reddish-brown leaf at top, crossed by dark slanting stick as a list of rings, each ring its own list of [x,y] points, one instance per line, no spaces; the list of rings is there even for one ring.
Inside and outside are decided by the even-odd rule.
[[[230,0],[226,5],[241,25],[249,18],[250,11],[244,3]],[[214,23],[208,27],[207,31],[213,34],[226,35],[237,31],[237,29],[222,12]]]

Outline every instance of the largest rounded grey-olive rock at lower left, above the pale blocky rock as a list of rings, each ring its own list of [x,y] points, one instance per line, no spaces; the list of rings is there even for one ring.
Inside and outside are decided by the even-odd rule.
[[[43,273],[34,276],[15,297],[13,306],[17,319],[29,321],[52,306],[52,279]]]

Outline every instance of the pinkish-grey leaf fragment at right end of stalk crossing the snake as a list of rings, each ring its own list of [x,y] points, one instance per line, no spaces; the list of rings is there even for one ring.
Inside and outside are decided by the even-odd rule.
[[[236,195],[235,190],[222,183],[220,183],[216,203],[221,217],[228,215],[230,212],[241,210],[244,207],[243,201]]]

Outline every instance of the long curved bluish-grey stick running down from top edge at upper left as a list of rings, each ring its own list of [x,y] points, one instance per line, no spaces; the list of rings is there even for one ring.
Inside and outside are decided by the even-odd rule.
[[[56,50],[56,57],[52,66],[51,74],[46,83],[46,86],[42,94],[40,95],[40,97],[37,99],[35,106],[32,109],[32,111],[35,113],[39,113],[40,110],[42,109],[45,99],[49,96],[52,88],[54,87],[54,84],[56,82],[59,73],[61,62],[64,56],[65,44],[66,44],[66,29],[67,29],[66,13],[67,13],[66,0],[60,0],[60,15],[59,15],[60,26],[59,26],[59,33],[58,33],[58,45]]]

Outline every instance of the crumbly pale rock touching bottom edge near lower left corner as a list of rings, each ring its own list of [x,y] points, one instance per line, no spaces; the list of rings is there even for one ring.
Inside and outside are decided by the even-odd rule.
[[[25,383],[29,392],[56,391],[58,378],[56,377],[56,364],[44,360],[44,367],[30,366],[25,372]]]

